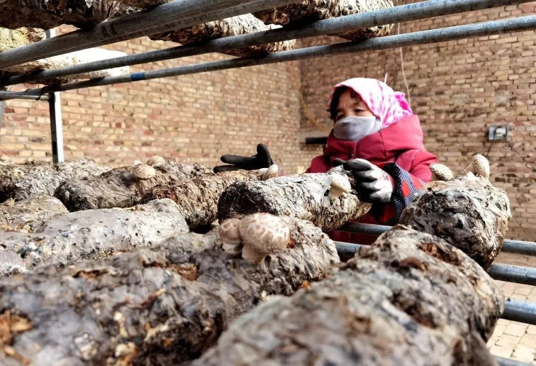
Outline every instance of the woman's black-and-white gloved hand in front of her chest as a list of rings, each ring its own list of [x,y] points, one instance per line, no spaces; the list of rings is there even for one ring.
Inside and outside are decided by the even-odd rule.
[[[355,179],[354,189],[359,199],[369,203],[387,203],[391,201],[394,181],[391,176],[365,159],[352,159],[347,162],[336,159],[333,166],[343,165]]]

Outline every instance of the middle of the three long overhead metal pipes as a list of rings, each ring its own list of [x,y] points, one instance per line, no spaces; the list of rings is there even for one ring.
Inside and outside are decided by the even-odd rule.
[[[165,50],[142,52],[136,55],[116,57],[86,64],[65,66],[56,68],[54,70],[44,70],[29,74],[14,75],[6,78],[5,81],[0,82],[0,85],[5,86],[17,83],[61,78],[68,75],[82,74],[97,70],[104,70],[107,68],[130,66],[147,62],[157,62],[172,58],[206,54],[209,52],[222,52],[271,42],[281,42],[285,40],[301,39],[312,36],[336,34],[346,32],[348,30],[367,28],[375,25],[445,16],[448,14],[466,11],[488,9],[496,6],[525,3],[528,1],[530,0],[430,0],[414,4],[399,5],[390,9],[375,10],[339,18],[319,20],[300,28],[279,28],[266,30],[264,32],[225,37],[210,41],[198,47],[179,46]]]

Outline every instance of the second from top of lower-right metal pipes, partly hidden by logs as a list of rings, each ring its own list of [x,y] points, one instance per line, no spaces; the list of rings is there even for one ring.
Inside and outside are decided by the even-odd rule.
[[[337,253],[341,257],[353,257],[361,248],[360,244],[346,243],[344,241],[336,241],[335,245],[337,246]],[[488,273],[497,280],[536,286],[536,268],[533,267],[497,263],[492,264]]]

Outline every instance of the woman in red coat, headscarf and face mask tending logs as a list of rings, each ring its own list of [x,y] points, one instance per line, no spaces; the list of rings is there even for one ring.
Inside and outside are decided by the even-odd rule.
[[[329,98],[333,129],[324,154],[312,159],[306,173],[321,173],[344,164],[355,178],[362,201],[373,204],[360,222],[394,225],[400,213],[431,179],[429,165],[437,158],[426,151],[419,118],[403,93],[376,79],[354,78],[333,87]],[[260,169],[273,164],[263,144],[252,157],[224,155],[215,172]],[[334,240],[371,243],[374,238],[332,232]]]

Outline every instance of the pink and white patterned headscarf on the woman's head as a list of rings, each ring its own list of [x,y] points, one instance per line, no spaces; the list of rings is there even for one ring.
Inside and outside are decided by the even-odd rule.
[[[353,78],[338,83],[331,89],[328,108],[331,109],[333,95],[341,87],[354,90],[382,122],[382,128],[392,125],[402,117],[413,115],[404,93],[395,92],[382,81],[368,78]]]

